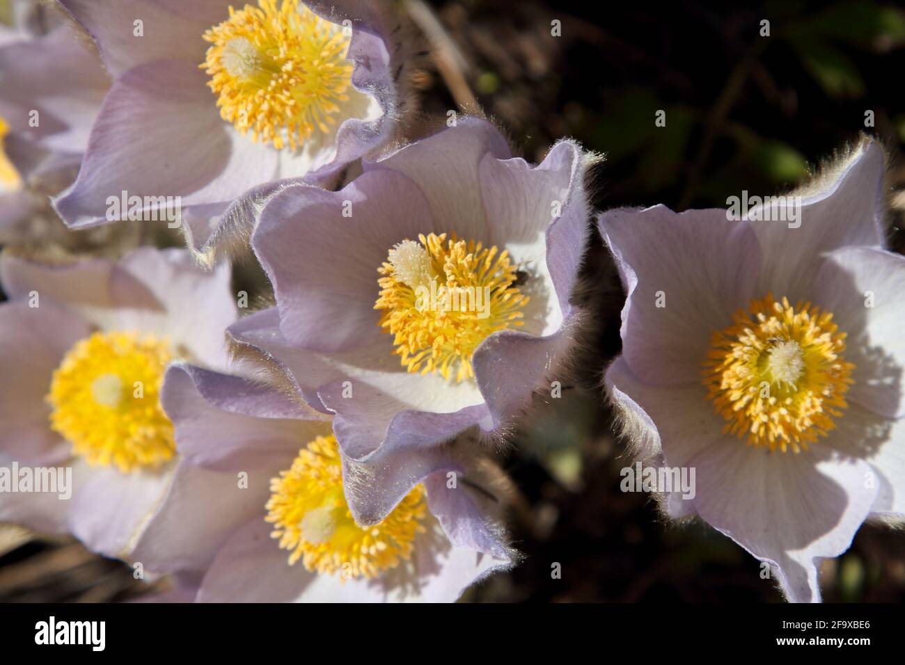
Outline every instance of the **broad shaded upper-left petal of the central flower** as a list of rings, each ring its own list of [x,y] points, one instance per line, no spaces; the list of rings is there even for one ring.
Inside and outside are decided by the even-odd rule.
[[[396,243],[433,231],[424,195],[394,173],[366,173],[340,192],[297,186],[274,196],[252,247],[276,292],[283,334],[319,351],[381,338],[389,347],[374,309],[377,269]]]

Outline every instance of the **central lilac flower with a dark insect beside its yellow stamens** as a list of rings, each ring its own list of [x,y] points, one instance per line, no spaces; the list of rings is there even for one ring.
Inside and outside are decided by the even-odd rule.
[[[349,460],[383,461],[347,486],[360,523],[386,517],[438,444],[508,432],[557,380],[588,236],[582,168],[570,141],[530,166],[465,118],[339,192],[297,185],[264,208],[252,247],[277,305],[231,328],[234,350],[335,413]]]

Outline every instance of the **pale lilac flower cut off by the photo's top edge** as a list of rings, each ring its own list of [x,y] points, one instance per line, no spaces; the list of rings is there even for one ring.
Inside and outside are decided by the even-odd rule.
[[[120,192],[142,219],[179,196],[190,246],[212,261],[215,242],[247,237],[250,202],[275,181],[324,184],[393,131],[391,55],[372,13],[348,17],[357,4],[61,2],[115,79],[78,179],[55,200],[71,226],[126,215],[110,212]]]

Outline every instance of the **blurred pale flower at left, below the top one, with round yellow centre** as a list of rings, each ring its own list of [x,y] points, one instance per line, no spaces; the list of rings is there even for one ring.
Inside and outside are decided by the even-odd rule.
[[[228,366],[229,271],[176,250],[57,267],[5,252],[0,284],[0,461],[71,469],[69,500],[5,492],[0,520],[128,556],[175,466],[158,397],[167,363]]]

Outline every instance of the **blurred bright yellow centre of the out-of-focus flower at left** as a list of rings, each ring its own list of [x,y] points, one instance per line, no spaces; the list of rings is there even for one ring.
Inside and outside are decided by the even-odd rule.
[[[169,345],[131,332],[94,333],[53,372],[51,428],[91,465],[128,473],[173,457],[173,424],[158,394]]]

